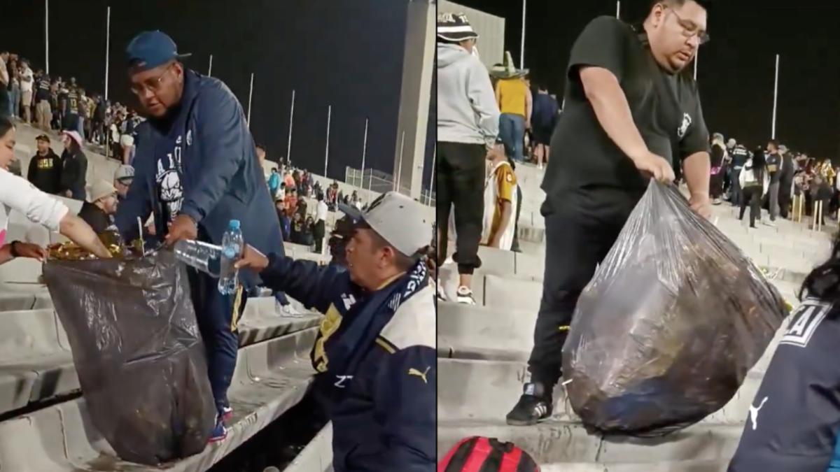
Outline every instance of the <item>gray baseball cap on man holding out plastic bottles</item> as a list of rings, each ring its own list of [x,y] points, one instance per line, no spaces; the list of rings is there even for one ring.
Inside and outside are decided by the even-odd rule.
[[[412,256],[432,244],[432,222],[423,217],[423,207],[396,191],[377,197],[365,212],[339,203],[339,210],[370,229],[403,255]]]

